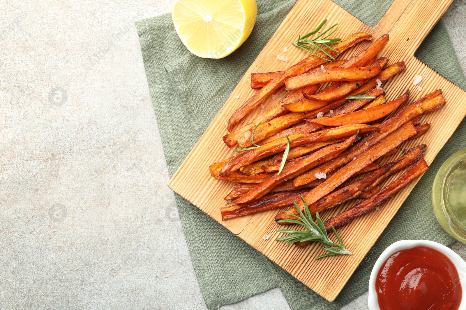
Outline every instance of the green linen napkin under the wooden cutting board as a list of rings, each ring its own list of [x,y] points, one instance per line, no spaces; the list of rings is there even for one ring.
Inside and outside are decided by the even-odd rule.
[[[237,51],[224,59],[202,59],[192,55],[179,40],[170,14],[137,22],[144,67],[170,176],[295,4],[295,0],[257,2],[259,11],[253,33]],[[370,26],[377,24],[391,4],[391,0],[335,2]],[[466,79],[443,22],[432,30],[416,57],[466,89]],[[279,286],[293,310],[338,309],[367,290],[373,264],[391,243],[401,239],[429,239],[451,244],[453,239],[433,215],[430,191],[440,165],[452,153],[466,147],[465,137],[466,123],[463,122],[333,303],[308,289],[175,194],[192,264],[207,308],[217,309]]]

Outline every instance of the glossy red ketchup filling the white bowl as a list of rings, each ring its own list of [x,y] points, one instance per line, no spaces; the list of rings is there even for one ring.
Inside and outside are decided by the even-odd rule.
[[[392,254],[377,274],[381,310],[458,310],[458,270],[440,251],[417,246]]]

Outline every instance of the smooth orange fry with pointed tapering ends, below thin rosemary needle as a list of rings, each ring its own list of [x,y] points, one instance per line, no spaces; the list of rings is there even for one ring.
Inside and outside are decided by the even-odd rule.
[[[342,113],[335,116],[321,117],[319,119],[307,119],[311,123],[320,124],[323,126],[341,126],[344,124],[365,124],[377,119],[381,119],[391,112],[395,111],[403,100],[393,100],[380,106],[374,106],[369,109],[359,110],[355,112]],[[335,113],[334,113],[335,114]]]

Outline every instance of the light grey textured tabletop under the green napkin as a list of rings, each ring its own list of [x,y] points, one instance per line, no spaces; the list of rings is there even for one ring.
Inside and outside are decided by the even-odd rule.
[[[1,309],[205,309],[134,27],[171,2],[0,2]],[[445,15],[463,70],[465,17]]]

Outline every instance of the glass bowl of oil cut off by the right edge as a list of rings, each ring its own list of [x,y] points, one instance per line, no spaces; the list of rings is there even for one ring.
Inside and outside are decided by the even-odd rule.
[[[432,205],[445,231],[466,244],[466,148],[454,153],[437,172]]]

